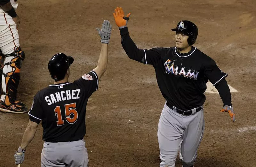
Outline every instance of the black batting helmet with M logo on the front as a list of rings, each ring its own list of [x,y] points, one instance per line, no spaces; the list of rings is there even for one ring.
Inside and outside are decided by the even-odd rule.
[[[173,28],[172,31],[180,31],[188,35],[188,44],[193,45],[196,43],[196,38],[198,35],[198,29],[194,23],[188,20],[182,20],[177,24],[176,28]]]

